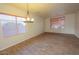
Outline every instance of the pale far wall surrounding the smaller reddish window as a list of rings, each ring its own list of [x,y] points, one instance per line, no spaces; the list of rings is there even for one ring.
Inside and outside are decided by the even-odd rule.
[[[64,29],[51,29],[50,18],[45,19],[45,32],[74,34],[75,33],[75,14],[65,15]]]

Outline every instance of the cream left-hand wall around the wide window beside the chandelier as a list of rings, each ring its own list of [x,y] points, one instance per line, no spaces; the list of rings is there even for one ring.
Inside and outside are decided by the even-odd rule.
[[[6,7],[7,7],[7,9],[6,9]],[[10,7],[10,6],[6,6],[6,5],[1,6],[0,5],[0,8],[2,9],[2,10],[0,10],[0,12],[11,13],[12,11],[13,12],[17,11],[15,13],[16,15],[19,15],[19,14],[22,15],[23,14],[25,16],[24,12],[22,13],[21,10]],[[18,35],[8,37],[8,38],[0,38],[0,50],[6,49],[6,48],[8,48],[10,46],[18,44],[18,43],[20,43],[20,42],[22,42],[24,40],[30,39],[30,38],[32,38],[34,36],[37,36],[37,35],[44,32],[44,30],[43,30],[43,24],[44,24],[43,19],[36,16],[36,15],[32,15],[32,16],[34,17],[35,21],[34,21],[34,23],[26,24],[26,28],[27,28],[26,33],[18,34]],[[1,29],[0,29],[0,31],[1,31]]]

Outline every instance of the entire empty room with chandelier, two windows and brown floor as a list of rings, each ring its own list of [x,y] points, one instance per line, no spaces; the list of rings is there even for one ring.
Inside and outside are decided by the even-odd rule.
[[[79,55],[79,3],[0,3],[0,55]]]

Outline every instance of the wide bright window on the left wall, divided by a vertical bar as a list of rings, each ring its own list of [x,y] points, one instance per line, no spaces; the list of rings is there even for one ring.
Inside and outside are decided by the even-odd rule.
[[[0,14],[0,28],[3,36],[25,33],[25,18]]]

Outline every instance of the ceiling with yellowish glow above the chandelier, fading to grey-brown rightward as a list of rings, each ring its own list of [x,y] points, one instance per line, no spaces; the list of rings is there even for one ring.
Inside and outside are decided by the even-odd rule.
[[[27,10],[26,3],[10,3],[12,7],[16,7],[23,11]],[[79,10],[78,3],[29,3],[31,13],[37,14],[43,18],[55,15],[74,13]]]

